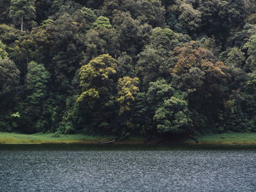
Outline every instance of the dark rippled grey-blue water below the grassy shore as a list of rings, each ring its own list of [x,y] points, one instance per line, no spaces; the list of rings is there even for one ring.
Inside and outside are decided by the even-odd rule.
[[[0,191],[256,191],[256,150],[0,145]]]

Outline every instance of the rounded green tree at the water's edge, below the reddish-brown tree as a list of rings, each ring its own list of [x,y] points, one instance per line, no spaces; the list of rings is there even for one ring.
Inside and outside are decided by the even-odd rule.
[[[192,127],[187,101],[166,80],[150,82],[146,93],[147,128],[158,133],[187,133]]]

